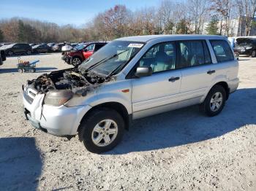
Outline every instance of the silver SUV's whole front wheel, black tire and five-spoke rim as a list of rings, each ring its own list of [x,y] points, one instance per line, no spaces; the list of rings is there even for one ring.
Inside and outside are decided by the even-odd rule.
[[[82,122],[78,132],[89,152],[107,152],[121,141],[124,119],[113,109],[97,109]]]

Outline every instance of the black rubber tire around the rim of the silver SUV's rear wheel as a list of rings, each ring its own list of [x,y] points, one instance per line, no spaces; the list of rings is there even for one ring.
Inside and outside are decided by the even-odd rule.
[[[216,95],[217,93],[221,93],[222,103],[219,104],[219,108],[216,111],[214,111],[213,109],[211,109],[211,106],[212,106],[211,98],[214,98],[214,95]],[[225,106],[226,99],[227,99],[227,93],[224,87],[222,87],[221,85],[214,85],[214,87],[211,88],[208,95],[206,96],[205,101],[203,101],[203,104],[200,105],[200,109],[201,111],[205,112],[205,114],[208,115],[209,117],[213,117],[219,114],[220,112],[222,112],[222,109]]]

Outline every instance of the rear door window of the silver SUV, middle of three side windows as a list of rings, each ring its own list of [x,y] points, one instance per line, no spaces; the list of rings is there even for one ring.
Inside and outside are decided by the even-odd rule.
[[[178,69],[211,63],[210,53],[204,41],[178,42],[178,51],[180,58]]]

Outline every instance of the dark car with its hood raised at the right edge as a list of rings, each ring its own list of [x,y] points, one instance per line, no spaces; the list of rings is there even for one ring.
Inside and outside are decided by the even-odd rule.
[[[256,39],[255,38],[238,38],[236,39],[235,54],[256,56]]]

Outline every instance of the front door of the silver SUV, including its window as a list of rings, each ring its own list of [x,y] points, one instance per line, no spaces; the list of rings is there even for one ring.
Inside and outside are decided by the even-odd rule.
[[[153,74],[132,79],[133,118],[169,111],[178,104],[181,71],[176,67],[176,43],[154,45],[138,62],[151,66]]]

